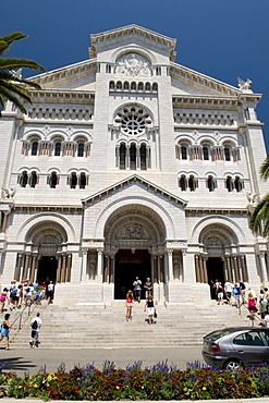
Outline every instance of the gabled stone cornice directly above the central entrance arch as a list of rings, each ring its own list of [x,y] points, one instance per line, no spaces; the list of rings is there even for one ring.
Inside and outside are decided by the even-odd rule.
[[[99,192],[96,192],[95,194],[82,199],[82,203],[87,206],[95,203],[98,203],[105,198],[110,197],[113,194],[118,194],[119,192],[123,192],[125,188],[137,185],[144,190],[146,190],[150,194],[159,195],[162,198],[166,198],[175,205],[181,205],[182,207],[185,207],[187,205],[187,200],[184,200],[183,198],[167,192],[162,187],[156,185],[155,183],[147,181],[146,179],[139,176],[139,175],[131,175],[120,182],[117,182],[108,187],[105,187],[100,190]]]

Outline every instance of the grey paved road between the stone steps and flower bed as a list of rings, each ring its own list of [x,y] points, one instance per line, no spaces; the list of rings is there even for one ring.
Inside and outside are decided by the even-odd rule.
[[[203,362],[200,347],[170,347],[170,349],[62,349],[62,350],[0,350],[0,361],[4,362],[4,369],[15,370],[19,375],[25,371],[30,375],[37,373],[46,366],[47,371],[56,371],[63,363],[66,370],[74,368],[75,365],[85,366],[93,364],[100,368],[102,363],[108,359],[115,364],[115,367],[125,368],[129,364],[142,361],[142,366],[151,366],[158,362],[168,361],[171,366],[180,369],[186,368],[186,363],[195,361]]]

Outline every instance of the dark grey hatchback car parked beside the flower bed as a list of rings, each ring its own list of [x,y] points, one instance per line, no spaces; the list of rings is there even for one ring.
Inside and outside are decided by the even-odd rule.
[[[269,328],[225,328],[204,337],[203,357],[210,366],[236,370],[269,364]]]

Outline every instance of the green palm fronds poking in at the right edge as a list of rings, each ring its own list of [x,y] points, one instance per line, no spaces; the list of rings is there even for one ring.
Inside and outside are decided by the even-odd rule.
[[[269,155],[260,167],[260,176],[269,179]],[[250,217],[250,229],[261,236],[269,235],[269,193],[258,203]]]

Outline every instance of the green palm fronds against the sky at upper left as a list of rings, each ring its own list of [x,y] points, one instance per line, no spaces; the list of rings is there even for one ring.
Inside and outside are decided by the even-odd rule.
[[[2,54],[9,50],[14,40],[24,39],[27,37],[27,35],[22,33],[13,33],[0,37],[0,109],[4,108],[4,101],[8,99],[12,101],[23,113],[26,113],[23,101],[32,103],[30,94],[26,87],[28,86],[35,89],[41,89],[38,84],[23,78],[17,73],[17,70],[23,68],[45,71],[41,65],[36,63],[34,60],[28,59],[2,58]]]

